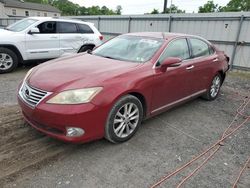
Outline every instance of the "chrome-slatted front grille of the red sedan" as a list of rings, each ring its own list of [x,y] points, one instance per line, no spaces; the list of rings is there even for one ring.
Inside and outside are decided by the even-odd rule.
[[[19,95],[28,105],[35,107],[49,95],[49,92],[31,87],[24,82],[19,90]]]

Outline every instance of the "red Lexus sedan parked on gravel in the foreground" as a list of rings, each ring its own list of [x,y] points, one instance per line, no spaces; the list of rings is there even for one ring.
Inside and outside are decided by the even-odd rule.
[[[145,118],[195,97],[214,100],[228,61],[197,36],[130,33],[30,70],[18,101],[25,120],[51,137],[119,143]]]

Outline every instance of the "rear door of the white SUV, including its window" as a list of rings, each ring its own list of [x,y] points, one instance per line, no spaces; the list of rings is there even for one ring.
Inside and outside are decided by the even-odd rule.
[[[60,37],[60,55],[77,53],[83,45],[82,34],[72,22],[58,22]]]

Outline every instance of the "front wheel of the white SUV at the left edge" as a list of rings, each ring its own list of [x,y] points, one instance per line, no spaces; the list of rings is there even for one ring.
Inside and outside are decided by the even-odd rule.
[[[15,52],[8,48],[0,48],[0,73],[12,72],[18,65]]]

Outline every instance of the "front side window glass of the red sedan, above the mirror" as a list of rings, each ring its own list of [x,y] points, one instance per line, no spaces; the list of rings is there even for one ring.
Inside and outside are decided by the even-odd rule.
[[[182,60],[189,59],[189,49],[186,39],[177,39],[173,42],[170,42],[170,44],[167,46],[163,54],[161,55],[159,59],[159,63],[161,64],[164,59],[168,57],[178,57]]]

